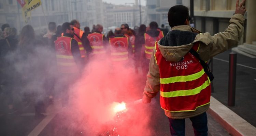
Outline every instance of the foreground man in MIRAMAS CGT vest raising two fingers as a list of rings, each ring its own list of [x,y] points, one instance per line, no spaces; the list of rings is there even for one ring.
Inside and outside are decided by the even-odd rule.
[[[207,136],[205,111],[210,106],[212,79],[203,64],[238,44],[244,32],[244,3],[239,5],[237,0],[230,25],[214,36],[189,26],[186,6],[170,8],[168,22],[172,29],[155,43],[142,102],[150,103],[160,91],[160,105],[169,118],[172,136],[185,135],[185,118],[192,121],[195,135]]]

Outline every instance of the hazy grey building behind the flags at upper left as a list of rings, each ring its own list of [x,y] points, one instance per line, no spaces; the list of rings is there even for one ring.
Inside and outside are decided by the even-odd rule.
[[[80,21],[81,29],[92,27],[97,21],[97,2],[102,0],[42,0],[42,5],[31,11],[30,24],[36,33],[45,33],[49,22],[61,25],[72,19]],[[99,7],[100,8],[100,7]],[[22,19],[21,6],[16,0],[0,0],[0,25],[9,23],[17,28],[18,32],[26,25]]]

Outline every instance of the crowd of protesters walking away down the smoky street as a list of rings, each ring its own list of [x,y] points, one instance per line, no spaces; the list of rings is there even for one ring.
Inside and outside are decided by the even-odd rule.
[[[35,117],[42,117],[46,107],[45,100],[49,104],[53,102],[53,98],[57,97],[54,90],[61,90],[62,94],[67,93],[63,90],[68,87],[68,83],[73,82],[78,77],[77,73],[97,55],[108,54],[114,62],[129,62],[135,66],[135,72],[138,73],[141,69],[143,77],[146,77],[150,58],[147,55],[151,55],[150,50],[155,46],[154,42],[169,31],[163,27],[164,25],[162,29],[158,28],[156,22],[151,22],[147,27],[142,24],[133,30],[128,24],[121,24],[120,28],[103,32],[103,26],[100,24],[93,25],[91,31],[89,27],[81,30],[79,21],[72,20],[60,26],[49,22],[48,31],[38,36],[31,25],[24,26],[17,34],[15,28],[3,24],[0,31],[0,97],[3,98],[1,107],[4,108],[1,109],[0,116],[14,114],[21,107],[33,105]],[[62,62],[59,62],[61,58],[58,56],[63,57],[63,54],[58,55],[57,51],[56,41],[59,37],[71,38],[70,51],[78,68],[76,74],[59,70],[58,64]],[[102,39],[95,41],[97,37]],[[152,39],[149,39],[150,37]],[[146,45],[148,42],[153,44]],[[56,73],[59,73],[58,76]],[[56,87],[56,84],[62,85]],[[62,106],[68,102],[67,95],[64,96],[59,97],[62,99]]]

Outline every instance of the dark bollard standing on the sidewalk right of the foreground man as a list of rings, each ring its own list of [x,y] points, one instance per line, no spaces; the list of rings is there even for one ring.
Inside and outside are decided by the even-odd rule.
[[[235,105],[237,53],[229,53],[228,106]]]

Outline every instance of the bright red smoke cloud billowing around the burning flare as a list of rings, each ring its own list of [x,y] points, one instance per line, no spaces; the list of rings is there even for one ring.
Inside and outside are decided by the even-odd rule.
[[[126,104],[141,99],[145,79],[135,73],[133,63],[123,65],[101,57],[91,61],[83,76],[71,87],[70,102],[77,119],[84,122],[82,128],[89,135],[97,135],[116,128],[120,136],[150,136],[152,134],[150,108],[146,105],[130,105],[124,113],[114,112],[115,102]]]

